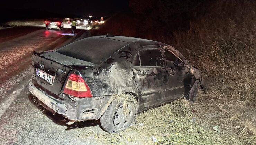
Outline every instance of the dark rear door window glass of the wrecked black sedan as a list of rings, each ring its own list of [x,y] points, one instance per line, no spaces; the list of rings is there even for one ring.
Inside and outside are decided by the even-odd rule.
[[[139,51],[141,66],[163,66],[160,49],[145,49]]]

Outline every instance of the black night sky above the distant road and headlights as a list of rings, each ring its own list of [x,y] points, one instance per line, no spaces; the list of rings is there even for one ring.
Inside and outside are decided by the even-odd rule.
[[[72,16],[111,16],[128,8],[129,0],[19,0],[1,1],[1,13],[3,17],[11,18],[33,18],[58,15],[64,17]],[[22,15],[27,15],[22,16]]]

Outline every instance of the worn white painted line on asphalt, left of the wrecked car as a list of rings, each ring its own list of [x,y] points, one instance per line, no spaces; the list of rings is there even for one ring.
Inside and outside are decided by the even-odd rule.
[[[4,112],[8,109],[8,107],[12,104],[12,102],[20,95],[21,91],[24,89],[24,87],[17,89],[13,91],[9,96],[6,96],[3,103],[0,105],[0,118],[3,115]]]

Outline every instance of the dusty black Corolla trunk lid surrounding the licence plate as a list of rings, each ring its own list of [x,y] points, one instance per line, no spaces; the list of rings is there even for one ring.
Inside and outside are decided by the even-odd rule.
[[[94,66],[95,64],[62,55],[56,51],[33,52],[31,73],[34,85],[48,95],[58,97],[69,72],[80,66]],[[40,69],[53,76],[52,84],[36,75]]]

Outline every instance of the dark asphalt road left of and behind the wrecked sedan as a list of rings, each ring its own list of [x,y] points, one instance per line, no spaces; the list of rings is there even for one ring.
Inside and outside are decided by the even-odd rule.
[[[98,121],[74,123],[40,107],[29,93],[30,57],[33,51],[55,50],[90,36],[88,25],[45,30],[44,25],[0,30],[0,144],[100,144],[84,135],[104,133]],[[75,129],[74,129],[75,128]]]

